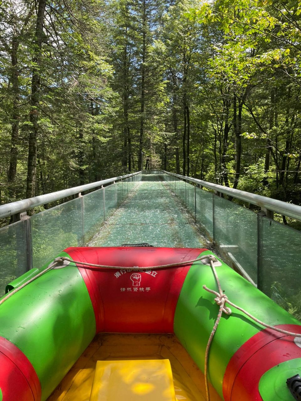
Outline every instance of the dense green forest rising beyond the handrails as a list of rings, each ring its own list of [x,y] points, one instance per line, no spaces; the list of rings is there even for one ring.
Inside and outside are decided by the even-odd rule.
[[[300,14],[300,0],[2,1],[0,204],[161,168],[300,205]]]

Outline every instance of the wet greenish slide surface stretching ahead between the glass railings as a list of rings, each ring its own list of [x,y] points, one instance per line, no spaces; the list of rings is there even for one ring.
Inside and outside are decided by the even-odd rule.
[[[207,247],[193,216],[163,182],[136,182],[89,246],[149,243],[156,247]]]

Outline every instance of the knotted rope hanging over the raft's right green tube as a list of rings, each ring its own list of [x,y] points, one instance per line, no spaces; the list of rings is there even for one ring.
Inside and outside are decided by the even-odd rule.
[[[218,278],[218,275],[216,273],[216,269],[214,267],[214,257],[209,257],[209,261],[210,261],[210,265],[212,268],[212,272],[214,274],[214,277],[216,279],[216,284],[218,286],[218,292],[214,291],[214,290],[210,290],[209,288],[207,288],[205,285],[203,286],[203,289],[210,292],[211,294],[214,294],[216,296],[216,298],[214,298],[216,304],[218,304],[218,306],[220,307],[220,310],[218,311],[218,317],[216,319],[216,322],[213,326],[212,332],[209,336],[209,340],[207,342],[207,346],[206,346],[206,350],[205,350],[205,368],[204,368],[204,376],[205,376],[205,388],[206,388],[206,397],[207,397],[207,401],[210,401],[210,393],[209,393],[209,385],[208,385],[208,356],[209,356],[209,349],[210,349],[210,345],[212,343],[214,334],[218,328],[218,325],[220,323],[220,319],[222,317],[222,313],[224,312],[227,315],[230,315],[232,313],[231,309],[228,308],[227,306],[225,306],[226,304],[229,304],[231,306],[233,306],[234,308],[240,310],[241,312],[243,312],[246,316],[248,316],[250,319],[254,320],[254,322],[260,324],[261,326],[264,326],[266,328],[270,328],[271,330],[277,331],[279,333],[282,334],[286,334],[288,336],[293,336],[293,337],[301,337],[301,334],[299,333],[293,333],[287,330],[282,330],[281,328],[275,327],[275,326],[270,326],[267,323],[262,322],[261,320],[255,318],[254,316],[252,316],[250,313],[248,313],[246,310],[244,310],[243,308],[240,308],[240,306],[237,306],[236,304],[234,304],[233,302],[228,300],[228,297],[226,296],[226,294],[224,294],[224,292],[222,291],[222,287],[220,285],[220,280]]]

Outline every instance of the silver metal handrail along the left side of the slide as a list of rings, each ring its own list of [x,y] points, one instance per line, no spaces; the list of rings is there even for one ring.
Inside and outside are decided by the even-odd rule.
[[[0,219],[4,217],[13,216],[17,213],[23,213],[28,209],[32,209],[33,207],[45,205],[49,202],[59,201],[59,199],[66,198],[67,196],[75,195],[83,191],[87,191],[89,189],[96,188],[98,186],[110,184],[114,181],[124,180],[126,178],[130,178],[137,174],[140,174],[141,171],[127,174],[124,176],[118,176],[114,178],[108,178],[107,180],[91,182],[90,184],[84,184],[79,186],[73,186],[73,188],[63,189],[57,192],[51,192],[50,194],[35,196],[33,198],[23,199],[21,201],[6,203],[5,205],[0,206]]]

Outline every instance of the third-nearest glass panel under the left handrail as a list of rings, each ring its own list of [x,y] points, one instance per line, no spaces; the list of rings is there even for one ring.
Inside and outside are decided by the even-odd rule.
[[[104,189],[83,196],[84,241],[88,241],[100,230],[104,222]],[[85,245],[84,244],[84,245]]]

